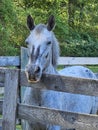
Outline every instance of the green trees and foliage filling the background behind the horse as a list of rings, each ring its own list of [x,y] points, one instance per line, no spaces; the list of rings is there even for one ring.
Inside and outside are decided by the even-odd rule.
[[[20,46],[25,46],[29,34],[28,14],[33,16],[35,24],[47,23],[51,14],[55,16],[54,32],[61,55],[98,55],[97,0],[1,0],[0,55],[19,55]]]

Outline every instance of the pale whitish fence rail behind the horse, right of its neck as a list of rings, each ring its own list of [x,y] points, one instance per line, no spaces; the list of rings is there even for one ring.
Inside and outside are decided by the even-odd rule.
[[[60,57],[59,65],[98,65],[98,57]]]

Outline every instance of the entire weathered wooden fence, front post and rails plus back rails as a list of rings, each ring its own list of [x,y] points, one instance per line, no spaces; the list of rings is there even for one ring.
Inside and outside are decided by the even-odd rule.
[[[22,52],[24,51],[22,50]],[[21,57],[24,58],[24,55],[21,54]],[[9,61],[11,57],[5,58],[7,58],[8,61],[6,62],[5,60],[6,64],[4,66],[9,66]],[[17,57],[17,59],[17,63],[19,64],[17,64],[16,66],[20,66],[20,63],[23,63],[23,59],[19,57]],[[21,62],[19,59],[21,59]],[[70,62],[66,62],[67,65],[68,63],[71,64],[71,62],[76,59],[79,60],[79,57],[71,59],[72,60],[69,60]],[[97,65],[98,62],[96,60],[98,60],[98,58],[94,58],[93,61],[90,60],[90,58],[88,59],[90,61],[90,64],[93,64],[94,61],[94,63],[96,63]],[[64,60],[66,61],[66,58],[64,58]],[[64,60],[61,64],[64,63]],[[73,64],[75,63],[73,62]],[[79,65],[80,62],[77,62],[77,64]],[[87,63],[87,65],[88,64],[89,63]],[[4,102],[0,101],[0,113],[3,113],[3,130],[15,130],[16,118],[60,125],[64,128],[76,128],[76,130],[98,130],[97,115],[80,114],[17,103],[17,93],[19,85],[47,89],[47,91],[55,90],[69,93],[98,96],[98,80],[44,74],[39,83],[30,84],[26,79],[24,71],[21,71],[19,69],[0,68],[0,87],[4,86],[5,89]]]

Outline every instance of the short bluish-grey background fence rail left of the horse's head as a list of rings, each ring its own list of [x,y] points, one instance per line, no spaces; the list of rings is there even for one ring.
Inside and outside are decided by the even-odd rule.
[[[0,56],[0,66],[20,66],[19,56]]]

